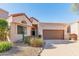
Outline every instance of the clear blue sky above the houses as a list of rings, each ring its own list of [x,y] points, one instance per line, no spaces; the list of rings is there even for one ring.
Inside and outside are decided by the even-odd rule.
[[[10,14],[25,13],[40,22],[71,23],[79,19],[69,3],[1,3],[0,8]]]

